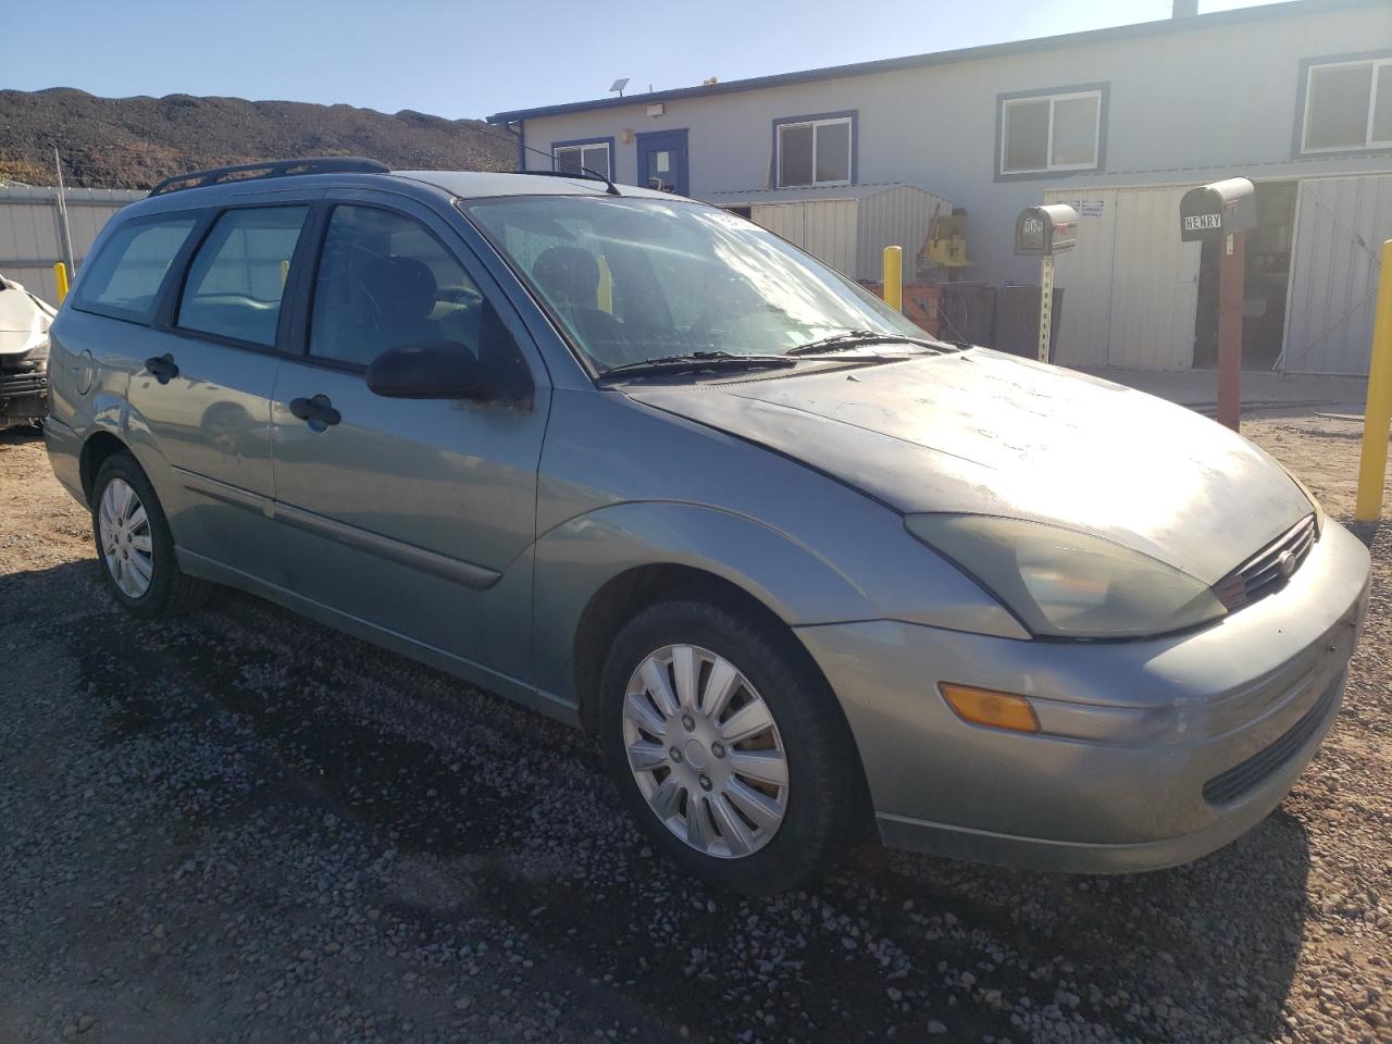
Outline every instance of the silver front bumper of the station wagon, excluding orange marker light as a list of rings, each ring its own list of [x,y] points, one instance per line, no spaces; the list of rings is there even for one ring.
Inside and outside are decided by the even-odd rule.
[[[1282,590],[1186,635],[798,635],[845,709],[885,844],[1123,873],[1197,859],[1281,803],[1338,715],[1367,592],[1367,550],[1328,522]],[[1041,734],[969,725],[938,682],[1029,696]]]

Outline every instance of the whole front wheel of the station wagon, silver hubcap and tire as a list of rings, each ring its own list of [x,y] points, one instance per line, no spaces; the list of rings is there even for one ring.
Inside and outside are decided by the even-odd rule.
[[[855,745],[780,625],[703,601],[653,606],[619,632],[601,686],[624,800],[689,873],[771,894],[841,853],[863,788]]]

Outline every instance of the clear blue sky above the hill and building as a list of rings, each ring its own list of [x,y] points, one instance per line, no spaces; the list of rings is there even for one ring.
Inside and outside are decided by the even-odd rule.
[[[1254,0],[1200,0],[1200,13]],[[0,0],[0,88],[482,117],[1169,17],[1169,0]],[[892,24],[881,24],[891,14]],[[61,19],[58,28],[54,19]],[[57,36],[54,35],[57,29]]]

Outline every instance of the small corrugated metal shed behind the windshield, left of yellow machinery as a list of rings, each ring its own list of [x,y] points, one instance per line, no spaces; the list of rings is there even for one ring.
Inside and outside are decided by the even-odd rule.
[[[856,280],[884,278],[884,248],[902,246],[905,278],[933,227],[952,203],[916,185],[838,185],[714,192],[715,206],[749,207],[757,224]]]

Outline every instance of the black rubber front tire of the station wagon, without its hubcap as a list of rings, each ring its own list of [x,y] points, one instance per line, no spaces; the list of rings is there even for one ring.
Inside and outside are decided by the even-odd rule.
[[[773,837],[739,859],[700,852],[650,807],[629,768],[624,700],[651,653],[692,644],[724,657],[757,689],[782,738],[786,810]],[[610,771],[651,845],[707,884],[745,895],[807,885],[842,855],[867,813],[864,775],[845,715],[796,639],[777,619],[734,604],[681,599],[638,612],[614,639],[600,689],[600,732]]]

